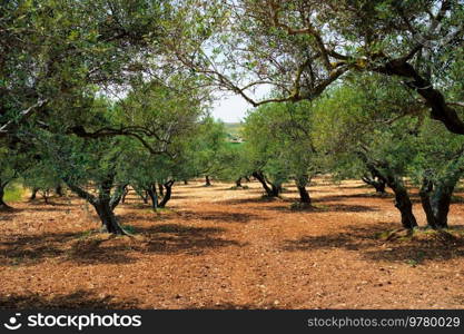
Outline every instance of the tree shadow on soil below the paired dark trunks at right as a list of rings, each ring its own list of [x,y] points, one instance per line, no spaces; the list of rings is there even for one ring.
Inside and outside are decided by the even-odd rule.
[[[406,262],[412,265],[424,261],[447,261],[464,257],[463,226],[453,227],[458,234],[419,232],[412,237],[386,240],[378,234],[397,224],[379,223],[375,225],[347,226],[345,230],[328,235],[304,236],[296,240],[286,240],[282,246],[286,252],[312,252],[343,248],[359,252],[366,261]]]

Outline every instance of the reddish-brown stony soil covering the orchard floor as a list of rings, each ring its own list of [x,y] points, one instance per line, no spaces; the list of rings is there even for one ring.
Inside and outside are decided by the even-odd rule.
[[[169,209],[135,195],[117,209],[135,237],[100,234],[75,197],[0,213],[0,308],[463,308],[464,205],[452,234],[399,227],[392,197],[361,183],[264,200],[256,183],[176,185]],[[424,216],[415,204],[416,216]]]

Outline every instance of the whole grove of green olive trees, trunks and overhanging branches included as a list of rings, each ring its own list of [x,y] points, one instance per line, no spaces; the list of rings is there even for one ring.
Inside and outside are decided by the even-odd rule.
[[[0,207],[6,186],[66,185],[108,232],[128,187],[254,177],[267,196],[317,174],[363,178],[417,225],[446,227],[462,175],[462,0],[12,0],[0,11]],[[258,99],[259,87],[270,92]],[[208,117],[253,107],[244,145]],[[162,190],[162,191],[161,191]],[[162,194],[161,194],[162,193]]]

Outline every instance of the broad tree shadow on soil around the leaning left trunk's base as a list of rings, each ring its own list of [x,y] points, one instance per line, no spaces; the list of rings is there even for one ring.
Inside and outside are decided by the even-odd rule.
[[[80,265],[129,264],[138,253],[200,255],[208,249],[243,244],[216,236],[225,232],[217,227],[194,227],[178,224],[137,226],[142,239],[115,237],[98,232],[14,236],[0,242],[0,265],[37,265],[58,258]]]

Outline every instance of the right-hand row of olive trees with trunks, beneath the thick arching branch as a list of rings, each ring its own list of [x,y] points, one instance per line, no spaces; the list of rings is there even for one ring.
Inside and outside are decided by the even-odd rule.
[[[403,227],[414,228],[407,180],[419,189],[427,226],[446,228],[464,173],[464,138],[427,118],[425,108],[378,75],[346,80],[313,104],[258,107],[245,122],[236,176],[255,176],[267,196],[294,180],[303,206],[312,205],[307,186],[318,174],[363,179],[378,193],[391,188]]]

